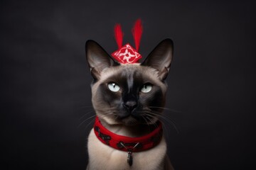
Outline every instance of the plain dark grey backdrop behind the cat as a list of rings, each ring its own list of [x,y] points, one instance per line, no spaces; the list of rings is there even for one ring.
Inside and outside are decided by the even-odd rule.
[[[113,26],[122,23],[124,42],[133,44],[130,30],[137,18],[144,25],[144,57],[164,38],[174,40],[166,103],[172,110],[165,112],[178,128],[165,125],[174,167],[255,166],[253,1],[0,5],[1,166],[85,169],[94,114],[85,42],[92,39],[107,52],[117,50]]]

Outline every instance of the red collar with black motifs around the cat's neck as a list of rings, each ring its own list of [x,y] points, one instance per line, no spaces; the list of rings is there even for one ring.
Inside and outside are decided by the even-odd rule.
[[[126,137],[107,130],[96,116],[94,131],[97,138],[105,145],[126,152],[140,152],[155,147],[161,141],[163,128],[160,122],[157,125],[156,129],[145,136]]]

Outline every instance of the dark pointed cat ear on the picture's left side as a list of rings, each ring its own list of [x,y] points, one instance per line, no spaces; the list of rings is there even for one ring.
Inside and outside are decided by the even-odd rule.
[[[94,40],[87,40],[85,53],[94,79],[100,79],[100,73],[103,69],[119,65],[117,62],[114,62],[112,57]]]

